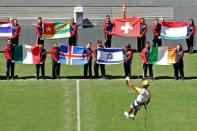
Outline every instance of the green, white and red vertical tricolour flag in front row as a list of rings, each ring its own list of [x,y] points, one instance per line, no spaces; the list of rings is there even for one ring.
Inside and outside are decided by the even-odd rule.
[[[14,61],[18,64],[40,64],[40,48],[38,45],[17,45],[14,47]]]

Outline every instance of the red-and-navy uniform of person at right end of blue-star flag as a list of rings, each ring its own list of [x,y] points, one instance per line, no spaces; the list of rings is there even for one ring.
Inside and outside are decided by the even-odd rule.
[[[125,77],[131,78],[131,64],[133,59],[133,52],[130,48],[124,50],[125,58],[124,58],[124,72]]]

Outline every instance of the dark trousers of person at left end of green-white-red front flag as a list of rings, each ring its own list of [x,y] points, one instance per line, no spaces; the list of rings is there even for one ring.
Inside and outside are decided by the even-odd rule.
[[[10,79],[10,70],[11,70],[11,78],[14,78],[14,66],[15,63],[12,63],[11,60],[6,60],[6,78]]]

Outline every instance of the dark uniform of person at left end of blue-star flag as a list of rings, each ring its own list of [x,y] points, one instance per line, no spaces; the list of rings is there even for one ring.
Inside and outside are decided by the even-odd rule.
[[[102,47],[99,47],[99,48],[104,48],[104,47],[102,46]],[[105,78],[105,65],[97,63],[97,48],[94,51],[94,55],[95,55],[94,56],[94,74],[95,74],[95,78],[96,79],[99,78],[98,71],[99,71],[99,66],[100,66],[102,78],[104,79]]]

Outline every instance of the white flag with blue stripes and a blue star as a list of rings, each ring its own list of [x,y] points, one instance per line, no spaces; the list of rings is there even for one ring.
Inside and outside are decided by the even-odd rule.
[[[121,48],[97,48],[98,64],[119,64],[124,62]]]

